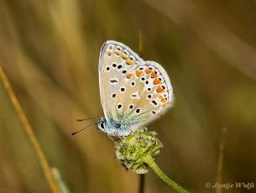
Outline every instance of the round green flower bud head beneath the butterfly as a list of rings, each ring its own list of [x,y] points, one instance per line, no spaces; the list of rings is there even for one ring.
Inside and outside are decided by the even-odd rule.
[[[159,154],[159,149],[163,144],[156,138],[156,132],[149,131],[148,128],[139,128],[136,133],[120,138],[115,143],[115,153],[118,162],[126,170],[131,170],[136,174],[145,174],[149,171],[147,159],[154,159]]]

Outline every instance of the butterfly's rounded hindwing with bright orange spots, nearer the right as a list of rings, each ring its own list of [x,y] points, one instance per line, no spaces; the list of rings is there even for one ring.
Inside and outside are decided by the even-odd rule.
[[[131,53],[133,55],[133,53]],[[113,117],[135,131],[173,104],[173,89],[165,69],[154,61],[143,61],[122,79],[112,104]]]

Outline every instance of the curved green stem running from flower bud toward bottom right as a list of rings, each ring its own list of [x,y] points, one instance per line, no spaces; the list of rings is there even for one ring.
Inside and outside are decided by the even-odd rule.
[[[173,187],[175,190],[177,190],[180,193],[188,193],[187,190],[184,190],[180,185],[176,184],[173,180],[170,180],[162,170],[159,169],[159,166],[155,164],[154,160],[152,158],[146,157],[144,158],[144,163],[149,164],[149,166],[154,170],[154,172],[159,175],[159,177],[165,181],[166,184]]]

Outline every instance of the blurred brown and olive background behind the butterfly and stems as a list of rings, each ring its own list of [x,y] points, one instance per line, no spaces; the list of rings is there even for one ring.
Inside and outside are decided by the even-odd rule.
[[[222,182],[256,184],[256,2],[249,0],[1,0],[0,65],[50,166],[71,192],[137,192],[138,175],[114,159],[101,117],[97,65],[113,39],[163,65],[175,107],[148,128],[165,145],[155,161],[191,192],[214,192],[222,128]],[[0,84],[0,192],[50,192]],[[223,190],[225,191],[225,190]],[[228,192],[253,192],[235,189]],[[152,170],[145,192],[174,192]]]

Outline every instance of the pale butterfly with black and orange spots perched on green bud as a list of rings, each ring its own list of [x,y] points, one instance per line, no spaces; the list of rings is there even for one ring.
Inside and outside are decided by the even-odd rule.
[[[109,40],[99,57],[102,110],[97,128],[108,136],[128,136],[173,105],[173,88],[165,69],[144,61],[125,44]]]

